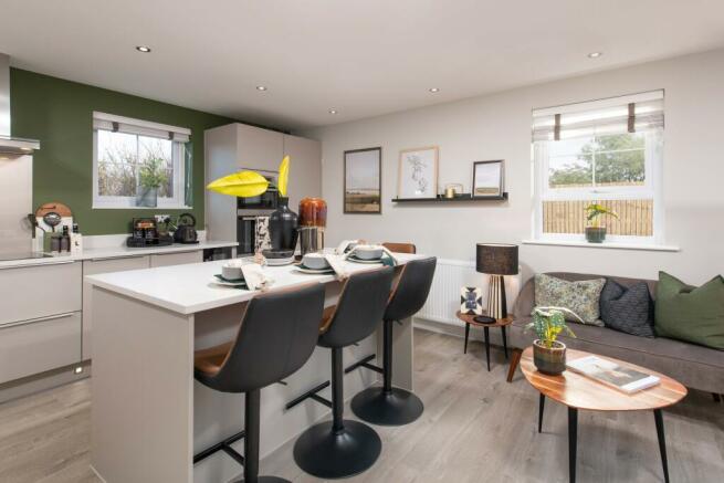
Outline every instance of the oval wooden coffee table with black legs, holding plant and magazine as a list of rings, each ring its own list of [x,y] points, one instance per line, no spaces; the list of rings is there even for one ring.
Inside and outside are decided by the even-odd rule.
[[[630,367],[641,372],[658,376],[661,382],[649,389],[633,395],[627,395],[613,388],[589,379],[586,376],[566,370],[560,376],[547,376],[538,372],[533,364],[533,347],[523,351],[521,369],[531,385],[541,392],[538,402],[538,432],[543,429],[543,410],[545,398],[548,397],[568,407],[568,477],[571,483],[576,481],[576,447],[578,439],[578,410],[590,411],[653,411],[657,422],[657,434],[659,437],[659,451],[663,465],[664,481],[669,482],[669,465],[667,463],[667,441],[663,432],[663,417],[661,409],[673,406],[686,396],[686,388],[674,379],[646,369],[633,364],[585,353],[583,350],[567,349],[566,358],[575,360],[580,357],[596,355],[602,359],[611,360],[625,367]]]

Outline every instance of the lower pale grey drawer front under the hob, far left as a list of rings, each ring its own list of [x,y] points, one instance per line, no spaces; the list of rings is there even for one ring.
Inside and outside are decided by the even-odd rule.
[[[0,384],[80,361],[80,312],[0,325]]]

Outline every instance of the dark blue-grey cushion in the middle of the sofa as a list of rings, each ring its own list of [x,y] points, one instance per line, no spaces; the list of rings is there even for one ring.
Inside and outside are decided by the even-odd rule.
[[[601,319],[615,330],[653,337],[652,306],[646,282],[625,287],[609,280],[601,292]]]

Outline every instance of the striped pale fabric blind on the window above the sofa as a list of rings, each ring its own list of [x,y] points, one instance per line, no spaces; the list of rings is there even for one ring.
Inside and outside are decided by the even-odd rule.
[[[663,91],[533,111],[533,140],[560,140],[663,127]]]

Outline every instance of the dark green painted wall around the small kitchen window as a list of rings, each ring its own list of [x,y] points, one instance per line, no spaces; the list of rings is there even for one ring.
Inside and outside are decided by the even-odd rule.
[[[10,70],[11,133],[40,140],[33,157],[33,204],[60,201],[73,210],[83,234],[127,233],[130,219],[180,210],[93,209],[93,112],[191,129],[193,214],[203,227],[203,132],[234,123],[200,111]]]

